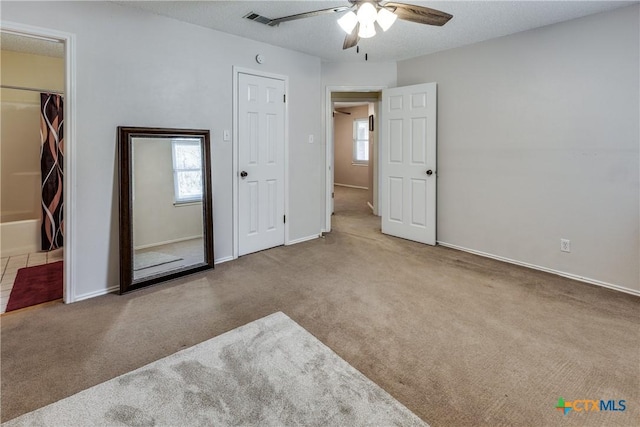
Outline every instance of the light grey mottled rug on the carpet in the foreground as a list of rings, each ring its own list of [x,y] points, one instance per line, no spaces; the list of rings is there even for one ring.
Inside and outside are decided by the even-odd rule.
[[[3,424],[428,427],[279,312]]]

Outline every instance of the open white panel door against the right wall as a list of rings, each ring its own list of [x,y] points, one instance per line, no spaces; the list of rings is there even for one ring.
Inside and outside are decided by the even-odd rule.
[[[436,244],[436,83],[382,91],[382,232]]]

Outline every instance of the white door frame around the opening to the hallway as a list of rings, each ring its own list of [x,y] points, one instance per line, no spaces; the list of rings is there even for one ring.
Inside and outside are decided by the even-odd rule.
[[[331,231],[331,214],[333,204],[331,203],[332,193],[333,193],[333,153],[334,153],[334,138],[333,138],[333,101],[331,100],[331,95],[334,92],[362,92],[363,98],[366,96],[365,93],[368,92],[380,92],[384,89],[387,89],[387,86],[327,86],[325,89],[325,114],[324,114],[324,127],[325,127],[325,209],[324,209],[324,227],[322,229],[323,233],[328,233]],[[356,99],[354,99],[355,101]],[[371,102],[371,101],[370,101]],[[382,109],[380,108],[380,102],[378,101],[378,115],[381,115]],[[374,132],[376,133],[376,141],[377,146],[374,147],[375,151],[375,162],[371,162],[369,166],[373,167],[373,183],[376,186],[374,188],[375,198],[378,200],[378,203],[375,204],[374,209],[375,213],[378,214],[380,212],[380,177],[379,177],[379,164],[378,159],[380,158],[380,120],[381,117],[376,118],[376,126]]]

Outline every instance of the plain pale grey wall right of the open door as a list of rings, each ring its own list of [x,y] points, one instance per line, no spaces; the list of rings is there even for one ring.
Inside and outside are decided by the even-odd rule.
[[[638,17],[398,63],[438,83],[439,241],[640,291]]]

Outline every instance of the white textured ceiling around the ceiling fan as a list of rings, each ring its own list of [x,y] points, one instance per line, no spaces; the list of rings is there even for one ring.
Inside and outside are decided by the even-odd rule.
[[[304,52],[323,61],[393,61],[412,58],[532,28],[604,12],[637,1],[413,1],[453,15],[443,27],[396,21],[386,33],[342,50],[339,14],[284,22],[278,27],[244,19],[249,12],[278,18],[316,9],[348,5],[348,1],[117,1],[126,7]]]

